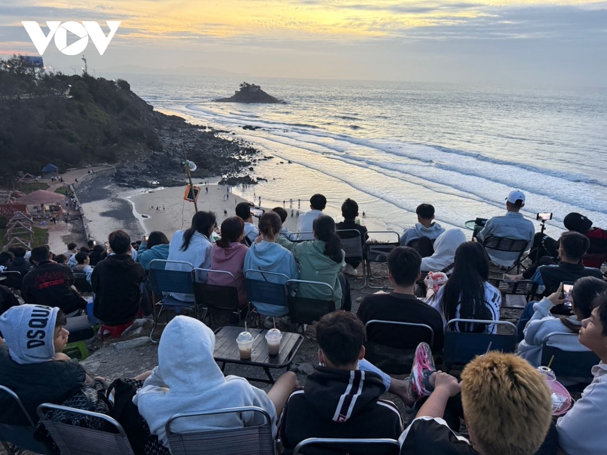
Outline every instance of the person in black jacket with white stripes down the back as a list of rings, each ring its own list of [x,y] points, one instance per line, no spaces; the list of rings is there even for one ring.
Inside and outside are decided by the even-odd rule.
[[[394,403],[379,398],[385,392],[381,377],[358,368],[365,356],[362,322],[351,313],[335,311],[315,328],[319,366],[285,406],[280,424],[283,454],[293,453],[309,437],[398,439],[402,417]],[[373,454],[391,453],[388,446],[379,447]],[[356,446],[347,452],[370,453],[368,447],[357,451]]]

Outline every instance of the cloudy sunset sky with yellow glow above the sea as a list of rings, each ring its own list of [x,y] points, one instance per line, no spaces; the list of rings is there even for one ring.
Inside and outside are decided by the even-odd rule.
[[[0,58],[39,55],[21,21],[37,21],[45,35],[46,21],[97,21],[106,34],[105,21],[121,21],[103,56],[89,40],[89,70],[607,86],[607,1],[90,3],[0,0]],[[43,56],[47,66],[80,72],[81,55],[64,55],[54,40]]]

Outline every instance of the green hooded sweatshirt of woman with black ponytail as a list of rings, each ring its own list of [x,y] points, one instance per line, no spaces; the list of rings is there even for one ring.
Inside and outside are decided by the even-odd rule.
[[[325,242],[322,240],[304,241],[293,243],[286,238],[278,237],[276,242],[287,248],[299,264],[300,280],[322,281],[333,288],[333,300],[335,309],[341,308],[342,290],[337,273],[345,267],[345,253],[341,251],[341,262],[335,262],[325,255]],[[327,299],[330,297],[328,291],[319,289],[318,286],[300,283],[297,287],[297,297]]]

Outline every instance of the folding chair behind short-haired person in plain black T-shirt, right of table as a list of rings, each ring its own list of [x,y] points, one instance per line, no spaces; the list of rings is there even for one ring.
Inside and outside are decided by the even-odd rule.
[[[373,337],[370,335],[368,330],[371,325],[393,325],[401,326],[403,331],[406,329],[412,329],[419,332],[423,332],[423,335],[419,337],[419,340],[415,343],[415,346],[409,349],[398,349],[392,346],[382,345],[381,343],[375,342]],[[415,348],[419,343],[426,342],[432,348],[434,347],[434,331],[432,327],[426,324],[418,324],[413,322],[397,322],[397,321],[382,321],[379,319],[373,319],[365,324],[367,330],[367,342],[365,342],[365,348],[367,353],[365,359],[373,363],[382,371],[389,374],[409,374],[413,366],[413,357],[415,356]],[[372,334],[373,332],[371,332]],[[407,334],[410,336],[410,334]],[[434,352],[436,354],[436,352]]]

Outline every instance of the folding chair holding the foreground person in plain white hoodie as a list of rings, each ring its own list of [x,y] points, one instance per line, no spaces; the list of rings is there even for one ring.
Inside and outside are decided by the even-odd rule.
[[[263,417],[264,423],[198,433],[189,431],[175,433],[171,430],[171,425],[174,425],[175,420],[178,419],[195,417],[200,420],[203,416],[231,413],[257,413]],[[179,413],[166,422],[165,429],[173,455],[274,455],[276,453],[270,416],[257,406]]]

